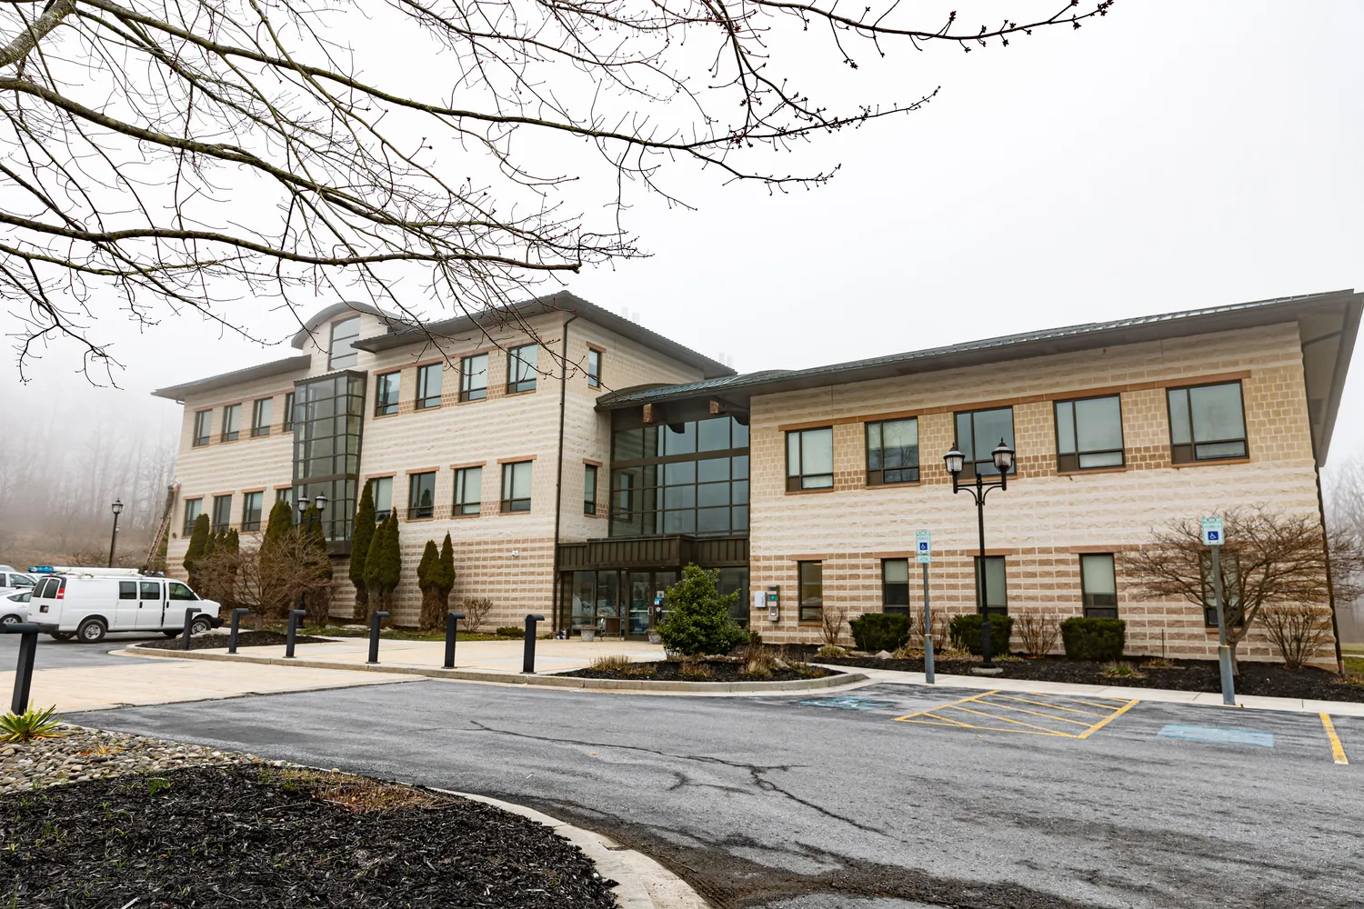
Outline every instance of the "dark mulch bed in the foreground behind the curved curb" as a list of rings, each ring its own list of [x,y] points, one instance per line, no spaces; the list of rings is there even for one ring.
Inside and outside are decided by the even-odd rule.
[[[615,882],[548,827],[348,774],[90,780],[5,795],[0,823],[5,906],[615,906]]]

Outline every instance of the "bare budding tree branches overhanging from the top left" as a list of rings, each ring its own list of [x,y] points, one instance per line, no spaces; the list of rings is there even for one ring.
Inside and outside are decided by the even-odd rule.
[[[1004,46],[1112,5],[1087,3],[925,26],[898,0],[847,11],[818,0],[0,0],[0,293],[22,323],[20,367],[34,343],[68,338],[87,368],[109,368],[91,324],[110,297],[143,324],[188,311],[241,334],[231,307],[241,297],[360,296],[415,324],[400,279],[424,279],[456,311],[506,303],[546,277],[640,255],[621,221],[626,187],[678,202],[666,165],[777,191],[817,185],[833,169],[783,174],[769,153],[936,94],[825,104],[797,84],[832,94],[802,65]],[[385,60],[381,46],[404,56]],[[406,84],[375,74],[394,63]]]

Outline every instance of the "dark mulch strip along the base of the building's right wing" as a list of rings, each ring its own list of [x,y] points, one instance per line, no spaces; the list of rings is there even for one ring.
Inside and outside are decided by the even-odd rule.
[[[821,664],[839,666],[861,666],[869,669],[895,669],[899,672],[923,672],[923,660],[877,660],[876,657],[807,657]],[[1063,657],[1042,657],[1041,660],[996,661],[1004,672],[997,679],[1028,679],[1034,681],[1065,681],[1086,685],[1121,685],[1124,688],[1170,688],[1174,691],[1222,690],[1222,677],[1214,660],[1172,660],[1174,668],[1162,669],[1144,665],[1144,660],[1127,661],[1144,677],[1106,676],[1106,662],[1065,660]],[[968,676],[979,666],[979,660],[933,660],[933,668],[943,675]],[[1277,662],[1241,661],[1236,677],[1236,692],[1243,695],[1267,695],[1271,698],[1311,698],[1315,700],[1356,700],[1364,702],[1364,684],[1349,684],[1334,672],[1314,669],[1285,669]]]

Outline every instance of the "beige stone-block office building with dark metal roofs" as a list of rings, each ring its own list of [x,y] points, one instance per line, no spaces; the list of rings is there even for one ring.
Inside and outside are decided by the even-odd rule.
[[[570,294],[427,331],[330,307],[297,357],[157,392],[186,407],[170,560],[201,511],[250,534],[276,497],[318,491],[340,557],[370,482],[402,519],[400,621],[420,548],[449,531],[453,602],[490,597],[496,624],[642,635],[694,561],[767,641],[814,642],[825,605],[919,615],[915,530],[934,608],[977,608],[975,510],[941,455],[955,442],[989,472],[1003,437],[989,605],[1117,615],[1133,653],[1213,656],[1204,611],[1142,600],[1114,556],[1234,506],[1320,519],[1361,307],[1345,290],[747,375]],[[1255,634],[1241,653],[1270,656]]]

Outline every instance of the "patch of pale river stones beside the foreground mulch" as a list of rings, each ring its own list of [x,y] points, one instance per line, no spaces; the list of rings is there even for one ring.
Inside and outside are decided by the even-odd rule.
[[[128,773],[263,763],[255,755],[71,724],[61,724],[60,732],[56,739],[0,745],[0,795]]]

